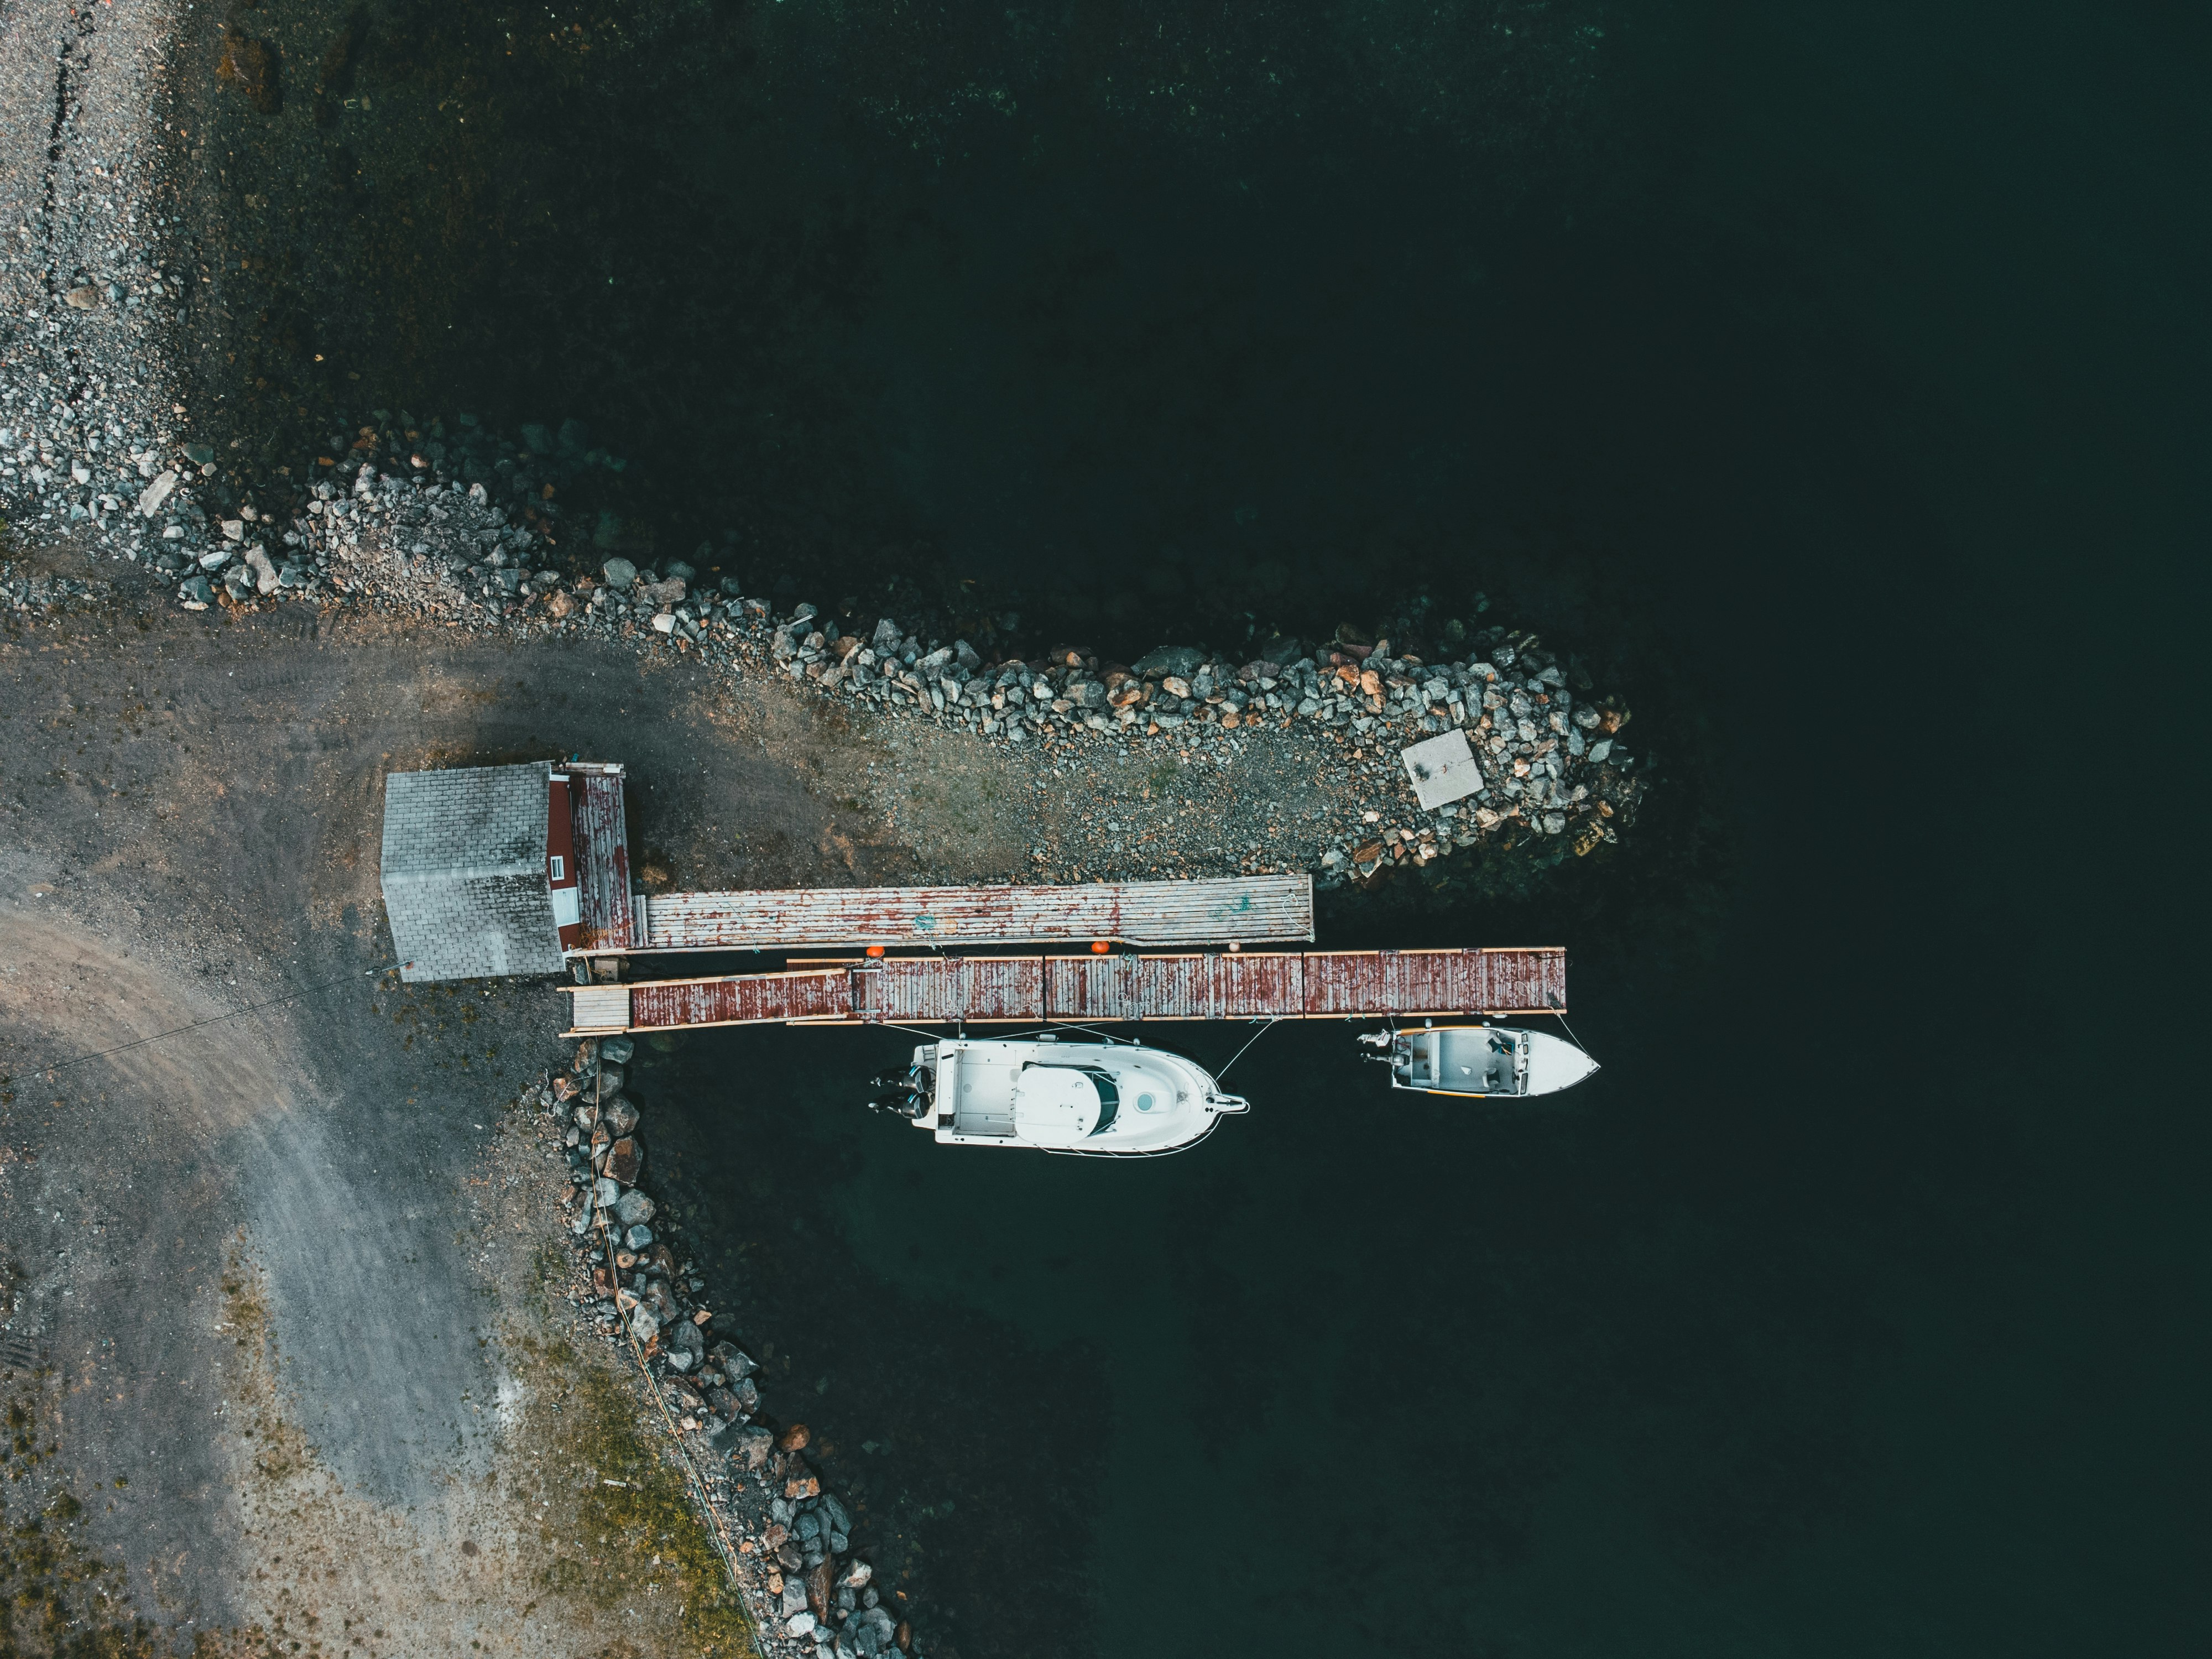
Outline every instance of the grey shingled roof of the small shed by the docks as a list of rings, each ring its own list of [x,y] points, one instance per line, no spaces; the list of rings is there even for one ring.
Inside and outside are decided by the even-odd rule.
[[[549,776],[542,761],[385,776],[385,914],[403,980],[560,971]]]

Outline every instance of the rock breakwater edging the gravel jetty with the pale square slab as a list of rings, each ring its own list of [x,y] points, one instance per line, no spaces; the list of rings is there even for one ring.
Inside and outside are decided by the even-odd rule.
[[[133,509],[144,524],[122,551],[188,611],[352,604],[515,637],[628,639],[885,717],[1029,745],[1053,765],[1097,745],[1166,748],[1188,761],[1274,732],[1310,739],[1296,763],[1327,785],[1325,807],[1294,827],[1285,814],[1232,812],[1197,849],[1199,863],[1179,869],[1307,869],[1329,885],[1484,843],[1548,838],[1586,854],[1635,821],[1646,790],[1621,741],[1628,708],[1593,695],[1573,659],[1528,633],[1449,624],[1453,644],[1436,659],[1349,637],[1276,641],[1279,659],[1243,661],[1197,646],[1164,646],[1133,664],[1086,646],[987,659],[967,639],[925,637],[896,617],[838,619],[805,602],[748,597],[734,577],[701,577],[681,560],[639,568],[608,557],[582,575],[564,571],[562,544],[577,538],[538,484],[551,465],[524,449],[484,467],[489,484],[462,484],[414,451],[405,469],[363,460],[334,471],[290,511],[241,500],[215,515],[199,509],[195,480],[164,465],[144,482]],[[0,568],[0,602],[35,611],[97,597],[97,584],[40,582]],[[1427,812],[1398,754],[1444,730],[1467,734],[1484,787]],[[1133,801],[1097,827],[1068,874],[1137,872],[1144,847],[1164,838],[1166,827],[1146,823]],[[1033,860],[1044,865],[1051,852],[1040,847]]]

